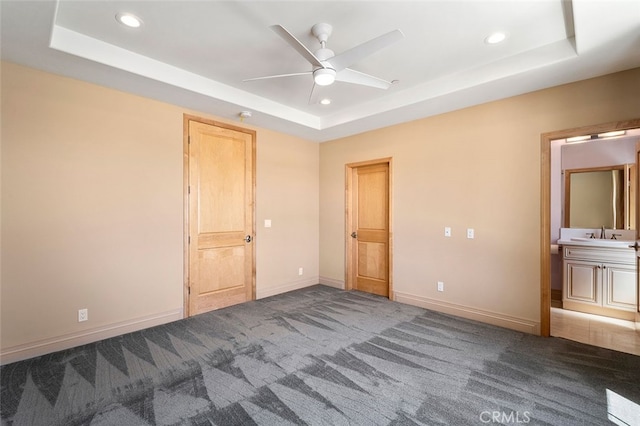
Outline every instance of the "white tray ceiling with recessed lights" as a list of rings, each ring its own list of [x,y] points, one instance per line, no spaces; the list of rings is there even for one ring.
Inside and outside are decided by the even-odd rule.
[[[533,90],[640,67],[638,0],[6,1],[2,59],[326,141]],[[122,26],[118,12],[144,24]],[[336,82],[308,104],[310,71],[269,27],[339,54],[394,29],[404,39],[351,68],[388,90]],[[484,43],[496,30],[498,45]],[[640,82],[639,82],[640,84]]]

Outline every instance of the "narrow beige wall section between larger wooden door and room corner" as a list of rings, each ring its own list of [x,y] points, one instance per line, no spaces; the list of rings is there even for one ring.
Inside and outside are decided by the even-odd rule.
[[[318,284],[320,147],[262,129],[257,151],[256,292],[262,298]]]

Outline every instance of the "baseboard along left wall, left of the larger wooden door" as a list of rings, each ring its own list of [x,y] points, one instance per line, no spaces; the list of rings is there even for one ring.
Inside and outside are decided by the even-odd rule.
[[[131,333],[166,324],[183,318],[182,309],[174,309],[160,314],[149,315],[136,318],[130,321],[123,321],[116,324],[106,325],[90,330],[83,330],[77,333],[43,339],[24,345],[18,345],[2,349],[0,352],[0,365],[9,364],[16,361],[33,358],[48,353],[73,348],[75,346],[86,345],[98,340],[108,339],[121,334]]]

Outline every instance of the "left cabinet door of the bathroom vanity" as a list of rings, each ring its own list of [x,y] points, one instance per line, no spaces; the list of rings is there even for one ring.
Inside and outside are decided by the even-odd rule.
[[[564,297],[591,305],[600,305],[601,264],[597,262],[565,262],[564,264]]]

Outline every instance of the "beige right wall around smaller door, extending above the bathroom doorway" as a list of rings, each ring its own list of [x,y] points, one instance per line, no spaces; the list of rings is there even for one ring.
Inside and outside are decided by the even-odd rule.
[[[540,134],[639,118],[639,81],[635,69],[322,144],[321,280],[344,282],[345,163],[393,157],[397,300],[536,332]]]

